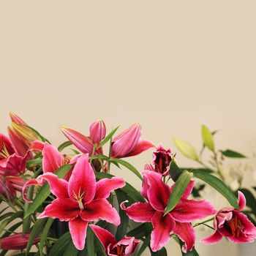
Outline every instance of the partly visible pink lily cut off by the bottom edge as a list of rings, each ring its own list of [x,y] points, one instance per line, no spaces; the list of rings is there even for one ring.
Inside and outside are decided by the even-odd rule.
[[[108,230],[97,225],[90,225],[90,227],[99,238],[105,252],[110,256],[129,256],[140,243],[140,240],[129,236],[124,236],[123,239],[116,242],[116,238]]]

